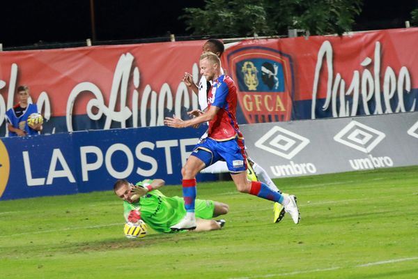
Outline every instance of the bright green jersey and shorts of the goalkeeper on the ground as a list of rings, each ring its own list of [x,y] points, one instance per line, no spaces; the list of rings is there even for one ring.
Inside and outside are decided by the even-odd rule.
[[[152,181],[147,181],[151,183]],[[141,186],[142,183],[137,183]],[[151,190],[142,196],[138,202],[130,204],[123,202],[123,215],[127,220],[132,209],[141,211],[141,218],[156,232],[171,232],[170,227],[176,225],[186,214],[185,202],[181,197],[167,197],[160,190]],[[213,215],[212,201],[196,199],[196,217],[210,219]]]

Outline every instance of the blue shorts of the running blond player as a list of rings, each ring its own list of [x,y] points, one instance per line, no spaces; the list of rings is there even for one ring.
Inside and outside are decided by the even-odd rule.
[[[229,172],[238,173],[247,170],[247,156],[244,149],[244,139],[238,137],[225,142],[217,142],[207,137],[194,147],[191,155],[202,160],[206,167],[224,160]]]

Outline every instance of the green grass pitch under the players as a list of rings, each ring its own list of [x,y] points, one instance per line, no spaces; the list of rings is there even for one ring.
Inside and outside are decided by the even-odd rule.
[[[220,231],[123,236],[123,206],[97,192],[0,202],[1,278],[418,278],[418,166],[275,179],[302,220],[231,181]],[[180,186],[162,189],[181,195]]]

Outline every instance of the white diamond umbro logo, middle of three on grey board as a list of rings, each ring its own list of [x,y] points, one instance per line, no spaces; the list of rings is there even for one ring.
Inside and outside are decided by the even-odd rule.
[[[351,121],[334,140],[358,151],[369,153],[386,137],[385,133],[357,121]]]

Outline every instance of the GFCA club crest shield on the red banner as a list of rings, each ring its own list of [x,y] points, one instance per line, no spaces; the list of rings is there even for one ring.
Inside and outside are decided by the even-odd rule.
[[[239,47],[229,52],[227,61],[247,123],[291,120],[291,56],[270,47]]]

